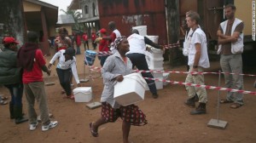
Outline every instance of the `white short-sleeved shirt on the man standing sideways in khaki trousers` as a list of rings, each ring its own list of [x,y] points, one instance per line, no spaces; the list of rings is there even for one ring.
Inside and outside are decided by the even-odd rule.
[[[188,35],[189,37],[191,35]],[[207,36],[204,31],[201,30],[201,28],[197,28],[195,32],[193,33],[191,37],[191,43],[189,46],[189,66],[194,65],[194,60],[195,60],[195,43],[201,43],[201,57],[198,63],[198,66],[201,66],[203,68],[208,68],[210,67],[210,62],[208,58],[208,53],[207,53]]]

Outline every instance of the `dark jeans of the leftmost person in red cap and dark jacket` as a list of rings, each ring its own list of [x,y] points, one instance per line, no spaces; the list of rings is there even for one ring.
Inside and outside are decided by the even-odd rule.
[[[23,84],[15,83],[4,86],[9,89],[9,93],[11,94],[10,104],[15,106],[22,106]]]

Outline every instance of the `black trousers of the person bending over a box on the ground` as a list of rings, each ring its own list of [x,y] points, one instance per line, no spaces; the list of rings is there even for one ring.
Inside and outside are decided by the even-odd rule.
[[[72,77],[71,68],[67,70],[61,70],[59,68],[56,68],[56,71],[57,71],[62,89],[65,90],[67,96],[70,96],[72,94],[71,85],[70,85],[71,84],[70,79]]]

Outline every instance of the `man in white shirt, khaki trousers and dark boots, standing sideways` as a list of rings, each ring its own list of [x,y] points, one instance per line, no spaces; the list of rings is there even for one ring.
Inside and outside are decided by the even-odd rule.
[[[207,37],[204,31],[198,26],[200,16],[197,13],[191,13],[187,17],[187,24],[192,29],[191,42],[189,44],[189,72],[203,72],[204,68],[210,67],[207,54]],[[195,83],[204,85],[204,76],[201,74],[189,73],[186,77],[186,83]],[[185,101],[185,105],[195,107],[195,94],[199,97],[199,106],[195,111],[190,112],[191,115],[205,114],[207,112],[207,90],[201,87],[186,86],[189,99]]]

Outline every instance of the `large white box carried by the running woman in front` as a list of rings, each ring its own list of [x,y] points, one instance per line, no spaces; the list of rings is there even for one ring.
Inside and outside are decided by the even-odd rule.
[[[122,106],[128,106],[144,100],[146,81],[140,73],[124,76],[122,82],[114,85],[113,98]]]

